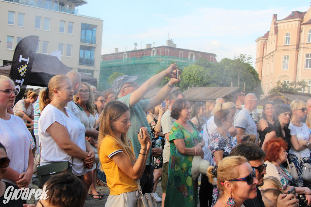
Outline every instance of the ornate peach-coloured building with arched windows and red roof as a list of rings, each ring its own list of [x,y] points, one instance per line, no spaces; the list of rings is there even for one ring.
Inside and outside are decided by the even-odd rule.
[[[311,7],[310,7],[311,8]],[[278,81],[305,81],[302,91],[311,93],[311,11],[292,11],[286,18],[272,16],[270,30],[258,37],[256,71],[262,81],[264,95]]]

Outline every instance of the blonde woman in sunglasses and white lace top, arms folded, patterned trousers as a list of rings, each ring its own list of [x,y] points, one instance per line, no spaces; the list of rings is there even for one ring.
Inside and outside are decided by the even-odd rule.
[[[311,164],[310,159],[310,142],[311,135],[305,123],[300,119],[307,114],[306,104],[299,100],[294,100],[290,104],[292,117],[290,120],[290,142],[292,147],[289,151],[289,162],[294,163],[298,173],[297,185],[299,187],[308,187],[311,189],[311,182],[304,181],[302,178],[302,170],[304,163]]]

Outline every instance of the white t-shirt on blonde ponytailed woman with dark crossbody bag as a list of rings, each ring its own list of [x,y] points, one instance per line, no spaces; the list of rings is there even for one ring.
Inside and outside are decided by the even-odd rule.
[[[69,110],[66,110],[68,117],[54,107],[48,104],[41,113],[38,122],[38,133],[41,142],[41,165],[49,164],[52,162],[69,161],[71,163],[72,157],[62,150],[46,129],[54,122],[58,122],[67,128],[70,140],[76,143],[82,150],[86,151],[85,145],[85,127],[78,120],[78,118]],[[83,160],[73,158],[72,173],[80,176],[86,173]]]

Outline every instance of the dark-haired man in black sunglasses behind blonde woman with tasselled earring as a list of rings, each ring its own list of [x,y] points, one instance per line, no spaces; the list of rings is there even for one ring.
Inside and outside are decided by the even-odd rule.
[[[263,158],[266,153],[256,144],[251,141],[243,141],[233,148],[229,156],[244,156],[247,162],[255,168],[257,184],[257,197],[253,199],[245,200],[243,205],[245,207],[267,207],[273,206],[272,203],[262,197],[261,192],[258,187],[263,185],[263,177],[266,173],[267,164],[264,163]],[[285,199],[286,196],[286,199]],[[292,199],[292,195],[280,194],[277,200],[277,207],[285,207],[295,205],[297,199]]]

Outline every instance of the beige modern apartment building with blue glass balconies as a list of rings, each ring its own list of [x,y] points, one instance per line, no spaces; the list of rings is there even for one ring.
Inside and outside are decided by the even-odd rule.
[[[12,62],[17,43],[39,36],[37,53],[61,50],[68,67],[99,78],[103,20],[79,14],[85,0],[0,0],[0,65]]]

